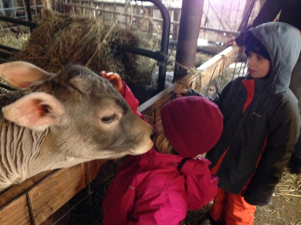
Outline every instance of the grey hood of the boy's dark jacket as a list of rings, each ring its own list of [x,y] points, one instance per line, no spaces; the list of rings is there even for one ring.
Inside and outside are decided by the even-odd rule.
[[[268,22],[248,29],[244,36],[245,45],[250,35],[265,46],[272,61],[270,75],[256,79],[255,85],[264,88],[265,91],[270,89],[272,93],[286,91],[290,84],[293,67],[300,54],[300,31],[284,22]],[[251,79],[249,73],[246,79]]]

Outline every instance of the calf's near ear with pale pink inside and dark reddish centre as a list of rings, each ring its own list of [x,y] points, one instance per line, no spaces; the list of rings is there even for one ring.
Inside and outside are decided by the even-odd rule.
[[[2,108],[5,119],[17,125],[43,131],[64,114],[60,101],[43,92],[30,93]]]

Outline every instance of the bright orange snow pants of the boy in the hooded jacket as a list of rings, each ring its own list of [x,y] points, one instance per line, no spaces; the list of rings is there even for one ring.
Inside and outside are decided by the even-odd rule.
[[[254,223],[255,205],[248,204],[244,197],[218,189],[213,198],[210,211],[216,222],[225,221],[226,225],[252,225]]]

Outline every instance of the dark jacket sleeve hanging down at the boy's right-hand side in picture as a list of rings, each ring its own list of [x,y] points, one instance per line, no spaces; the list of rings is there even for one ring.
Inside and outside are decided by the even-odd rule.
[[[297,103],[284,102],[268,122],[268,136],[261,159],[244,199],[251,205],[267,205],[280,182],[299,137],[300,117]]]

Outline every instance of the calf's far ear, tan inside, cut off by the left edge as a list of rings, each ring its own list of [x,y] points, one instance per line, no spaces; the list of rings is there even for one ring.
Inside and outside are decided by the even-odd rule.
[[[14,88],[28,87],[33,82],[52,75],[29,62],[13,61],[0,64],[0,76]]]

